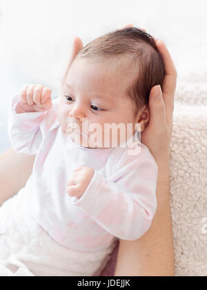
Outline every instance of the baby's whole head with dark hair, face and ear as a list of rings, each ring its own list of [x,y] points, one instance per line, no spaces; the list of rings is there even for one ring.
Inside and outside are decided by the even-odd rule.
[[[131,134],[135,124],[141,123],[142,131],[149,119],[150,90],[162,86],[163,80],[164,62],[148,33],[124,28],[97,37],[77,54],[68,70],[58,109],[61,127],[66,132],[75,124],[83,132],[87,120],[88,138],[99,127],[102,141],[106,123],[122,124],[119,128],[125,126],[126,130],[127,124],[133,124]],[[105,147],[102,141],[92,147]]]

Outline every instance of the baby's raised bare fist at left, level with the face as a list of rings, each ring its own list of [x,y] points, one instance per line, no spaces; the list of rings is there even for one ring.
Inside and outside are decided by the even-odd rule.
[[[25,85],[18,94],[17,113],[50,110],[52,91],[43,85]]]

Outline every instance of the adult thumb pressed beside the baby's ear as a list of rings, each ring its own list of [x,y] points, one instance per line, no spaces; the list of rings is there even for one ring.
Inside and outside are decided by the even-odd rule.
[[[153,126],[155,129],[160,129],[160,126],[166,122],[166,110],[160,85],[155,85],[150,90],[149,108],[149,126]]]

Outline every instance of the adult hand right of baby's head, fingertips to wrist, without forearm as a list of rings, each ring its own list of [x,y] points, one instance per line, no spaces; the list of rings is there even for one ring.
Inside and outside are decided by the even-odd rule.
[[[148,147],[157,163],[161,163],[170,155],[177,72],[164,42],[157,39],[155,41],[164,59],[166,74],[162,91],[160,85],[155,85],[150,90],[150,119],[148,126],[141,133],[141,142]]]

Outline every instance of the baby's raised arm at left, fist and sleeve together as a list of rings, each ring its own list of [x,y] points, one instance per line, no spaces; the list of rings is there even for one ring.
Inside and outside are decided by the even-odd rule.
[[[37,154],[42,142],[41,121],[50,110],[51,90],[39,90],[37,85],[26,86],[19,94],[12,96],[8,114],[8,134],[16,152]]]

